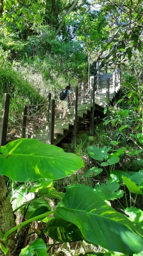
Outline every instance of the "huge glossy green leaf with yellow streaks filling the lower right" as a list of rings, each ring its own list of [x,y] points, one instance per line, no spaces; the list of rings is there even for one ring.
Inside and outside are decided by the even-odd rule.
[[[143,230],[89,187],[69,187],[56,212],[79,227],[84,239],[91,243],[126,254],[143,250]]]

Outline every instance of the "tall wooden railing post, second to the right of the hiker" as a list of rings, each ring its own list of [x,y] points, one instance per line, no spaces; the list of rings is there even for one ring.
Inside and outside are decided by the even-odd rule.
[[[95,89],[97,88],[96,76],[90,76],[90,135],[94,135],[94,110],[95,110]]]

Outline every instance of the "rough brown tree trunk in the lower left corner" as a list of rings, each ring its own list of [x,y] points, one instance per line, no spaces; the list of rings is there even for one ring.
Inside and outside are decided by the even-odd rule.
[[[4,176],[0,175],[0,230],[4,234],[13,227],[15,227],[14,213],[8,197]],[[15,234],[11,233],[8,237],[8,248],[12,252],[15,247]],[[1,255],[3,255],[3,252],[0,250]]]

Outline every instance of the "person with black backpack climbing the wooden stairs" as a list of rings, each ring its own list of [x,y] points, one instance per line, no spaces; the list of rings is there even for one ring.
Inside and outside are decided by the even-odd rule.
[[[64,109],[63,117],[66,117],[67,109],[68,109],[68,102],[70,102],[70,105],[72,105],[72,99],[71,99],[71,91],[70,86],[67,85],[64,90],[61,91],[59,95],[60,99],[60,105]]]

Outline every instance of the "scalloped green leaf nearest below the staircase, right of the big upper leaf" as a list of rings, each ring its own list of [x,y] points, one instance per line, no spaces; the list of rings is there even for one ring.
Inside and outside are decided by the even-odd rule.
[[[95,146],[89,146],[87,147],[87,151],[88,154],[90,155],[90,157],[92,157],[95,160],[98,161],[103,161],[104,158],[108,157],[107,152],[110,150],[111,148],[107,148],[107,146],[104,146],[103,148],[98,148]]]

